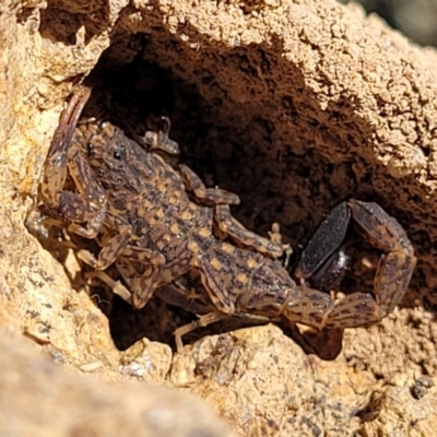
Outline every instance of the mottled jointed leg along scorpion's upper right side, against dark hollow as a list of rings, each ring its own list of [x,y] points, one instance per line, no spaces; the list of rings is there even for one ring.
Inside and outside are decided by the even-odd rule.
[[[252,233],[232,216],[229,204],[239,203],[237,194],[220,188],[206,188],[199,176],[186,165],[179,165],[179,169],[187,189],[192,191],[199,200],[214,205],[215,221],[224,234],[243,246],[267,253],[273,258],[277,258],[283,253],[281,245]]]

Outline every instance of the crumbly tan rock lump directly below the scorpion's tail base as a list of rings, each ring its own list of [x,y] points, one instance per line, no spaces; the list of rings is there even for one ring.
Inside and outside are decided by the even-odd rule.
[[[246,436],[351,435],[375,387],[370,373],[314,359],[273,326],[199,341],[177,356],[170,380],[209,399]]]

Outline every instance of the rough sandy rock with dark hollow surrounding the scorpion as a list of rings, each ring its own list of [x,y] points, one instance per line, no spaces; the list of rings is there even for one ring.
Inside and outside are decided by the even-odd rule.
[[[435,389],[415,385],[437,370],[435,51],[333,1],[62,0],[3,1],[0,52],[2,324],[99,379],[189,387],[241,435],[430,435]],[[74,257],[24,227],[62,103],[86,78],[105,111],[91,116],[137,128],[169,115],[185,162],[237,191],[238,218],[259,233],[277,221],[297,247],[340,199],[380,202],[418,256],[402,309],[349,331],[331,363],[272,327],[176,358],[147,340],[117,351]]]

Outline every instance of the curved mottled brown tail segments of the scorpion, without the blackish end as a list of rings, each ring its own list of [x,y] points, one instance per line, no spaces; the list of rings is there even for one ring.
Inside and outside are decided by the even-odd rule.
[[[382,255],[375,274],[374,295],[345,296],[328,315],[328,328],[355,328],[380,321],[401,300],[416,263],[413,246],[393,217],[374,202],[350,200],[347,204],[354,221]]]

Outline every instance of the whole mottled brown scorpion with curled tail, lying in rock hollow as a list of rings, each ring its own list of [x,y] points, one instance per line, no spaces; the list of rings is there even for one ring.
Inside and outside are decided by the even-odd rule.
[[[78,123],[90,94],[79,88],[61,114],[27,226],[55,225],[95,240],[98,255],[80,249],[78,257],[134,308],[156,294],[198,315],[177,330],[178,350],[181,335],[226,317],[343,330],[377,323],[399,304],[416,258],[405,231],[377,203],[351,199],[334,208],[304,249],[294,280],[280,261],[283,246],[233,217],[237,194],[206,188],[188,166],[175,169],[161,156],[178,153],[169,122],[147,131],[144,144],[109,122]],[[381,256],[373,293],[336,302],[327,291],[345,269],[352,222]],[[106,272],[113,264],[123,283]]]

